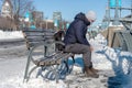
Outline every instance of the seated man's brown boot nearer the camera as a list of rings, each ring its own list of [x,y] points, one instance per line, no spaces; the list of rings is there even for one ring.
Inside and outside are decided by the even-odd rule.
[[[92,78],[98,78],[99,75],[97,73],[92,73],[89,67],[84,68],[84,73],[86,74],[87,77],[92,77]]]

